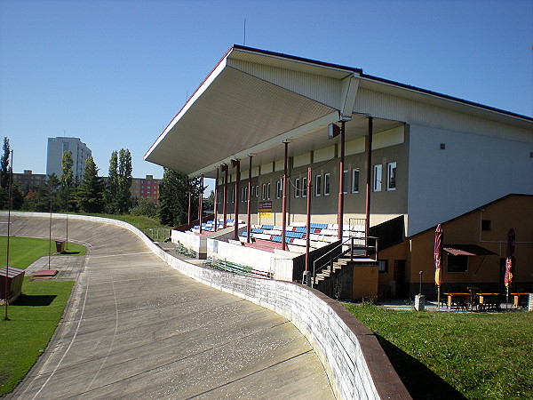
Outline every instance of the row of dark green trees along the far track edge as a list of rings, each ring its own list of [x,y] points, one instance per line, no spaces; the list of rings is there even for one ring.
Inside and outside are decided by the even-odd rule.
[[[0,157],[0,208],[6,209],[12,172],[11,148],[7,138],[4,138],[3,150]],[[72,167],[72,152],[68,150],[63,153],[59,177],[49,175],[44,185],[30,188],[21,188],[12,181],[12,209],[32,212],[131,212],[159,217],[164,225],[179,226],[187,222],[190,194],[192,220],[197,219],[198,199],[204,188],[200,188],[199,179],[189,179],[182,172],[164,169],[158,207],[151,200],[136,201],[131,197],[131,153],[127,148],[111,153],[107,178],[99,177],[99,169],[92,157],[85,162],[81,181],[74,177]],[[211,197],[211,202],[204,204],[204,209],[212,208]]]

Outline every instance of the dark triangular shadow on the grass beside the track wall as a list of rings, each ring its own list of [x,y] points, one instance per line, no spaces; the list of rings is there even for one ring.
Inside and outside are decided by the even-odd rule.
[[[377,334],[376,337],[413,399],[466,398],[416,358],[397,348],[382,336]]]

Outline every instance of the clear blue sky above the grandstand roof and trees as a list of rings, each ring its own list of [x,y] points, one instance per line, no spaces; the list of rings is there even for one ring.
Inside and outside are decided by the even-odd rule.
[[[348,67],[533,116],[533,1],[0,0],[0,137],[44,173],[72,136],[107,175],[143,156],[232,44]]]

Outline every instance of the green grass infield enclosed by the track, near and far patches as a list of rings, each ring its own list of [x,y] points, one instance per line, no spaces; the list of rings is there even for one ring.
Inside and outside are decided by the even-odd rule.
[[[0,236],[2,265],[5,265],[6,239],[6,236]],[[27,268],[48,255],[48,249],[46,239],[12,236],[9,264],[15,268]],[[68,244],[68,253],[84,254],[85,248]],[[22,284],[22,295],[7,308],[8,321],[4,321],[4,306],[0,308],[0,396],[15,388],[43,353],[63,316],[73,284],[53,280],[31,282],[27,276]]]

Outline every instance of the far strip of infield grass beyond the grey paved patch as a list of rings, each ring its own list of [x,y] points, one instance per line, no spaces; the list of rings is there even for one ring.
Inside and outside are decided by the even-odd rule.
[[[0,266],[2,267],[5,267],[6,242],[7,236],[0,236]],[[20,269],[25,269],[34,261],[48,255],[49,248],[52,254],[56,251],[54,241],[50,245],[48,239],[19,236],[9,238],[9,248],[9,266]],[[69,243],[65,255],[84,255],[85,250],[82,245]]]

